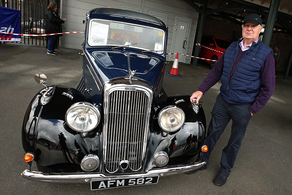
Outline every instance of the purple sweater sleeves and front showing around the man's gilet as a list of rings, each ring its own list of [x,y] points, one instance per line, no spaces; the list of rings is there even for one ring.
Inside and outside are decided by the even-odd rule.
[[[237,59],[231,71],[230,78],[232,77],[234,70],[239,62],[239,60],[244,55],[245,51],[239,51]],[[199,87],[199,91],[205,94],[213,85],[215,85],[221,78],[223,73],[223,58],[224,54],[215,63],[214,68],[209,72],[208,76],[205,78],[203,83]],[[262,89],[256,97],[255,101],[249,106],[251,113],[258,112],[261,108],[265,106],[267,101],[272,96],[275,89],[275,63],[273,54],[270,53],[265,59],[261,71],[260,71],[260,82]],[[229,78],[229,79],[230,79]]]

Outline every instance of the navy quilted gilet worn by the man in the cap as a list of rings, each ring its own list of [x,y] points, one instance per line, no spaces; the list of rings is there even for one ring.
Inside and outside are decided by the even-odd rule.
[[[220,92],[224,100],[231,104],[247,104],[256,99],[261,89],[261,67],[270,52],[273,52],[261,40],[257,43],[253,42],[251,48],[245,52],[239,61],[229,83],[232,67],[239,49],[241,49],[239,46],[241,40],[233,42],[224,53]]]

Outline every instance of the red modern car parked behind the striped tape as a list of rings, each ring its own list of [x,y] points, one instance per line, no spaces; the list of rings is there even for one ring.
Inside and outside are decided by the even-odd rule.
[[[212,35],[203,35],[199,51],[199,57],[211,60],[218,60],[223,55],[223,52],[227,49],[227,47],[230,46],[231,43],[232,41],[228,39],[214,37]],[[216,63],[215,61],[208,60],[203,61],[210,63],[211,69]]]

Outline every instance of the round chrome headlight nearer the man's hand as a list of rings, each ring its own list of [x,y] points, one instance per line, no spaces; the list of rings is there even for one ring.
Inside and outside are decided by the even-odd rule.
[[[158,124],[166,132],[173,132],[183,126],[185,113],[176,106],[167,106],[158,114]]]

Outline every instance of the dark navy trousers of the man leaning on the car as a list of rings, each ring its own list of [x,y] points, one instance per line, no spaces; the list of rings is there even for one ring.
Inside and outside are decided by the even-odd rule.
[[[207,162],[206,165],[208,165],[211,152],[216,142],[231,119],[231,134],[227,145],[222,151],[220,163],[221,168],[224,168],[227,172],[231,171],[244,138],[246,127],[251,119],[251,112],[248,109],[249,106],[250,104],[227,105],[220,95],[217,96],[216,103],[212,110],[212,118],[207,137],[204,141],[204,144],[207,145],[209,149],[207,152],[203,153],[203,158]]]

